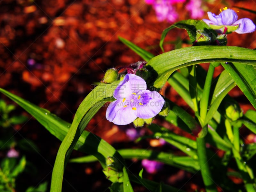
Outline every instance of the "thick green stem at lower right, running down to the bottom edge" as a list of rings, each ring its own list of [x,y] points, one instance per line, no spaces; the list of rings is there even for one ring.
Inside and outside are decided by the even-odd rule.
[[[201,174],[203,177],[205,189],[207,192],[213,192],[213,191],[217,192],[217,188],[212,179],[212,173],[208,164],[204,137],[196,138],[196,142],[197,142],[197,155],[198,155],[199,165],[201,168]]]

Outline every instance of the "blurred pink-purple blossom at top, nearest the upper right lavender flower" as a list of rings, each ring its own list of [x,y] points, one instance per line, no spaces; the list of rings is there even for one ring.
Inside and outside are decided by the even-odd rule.
[[[192,19],[201,18],[204,16],[204,11],[201,8],[202,1],[201,0],[190,0],[186,5],[186,9],[190,13],[190,17]]]

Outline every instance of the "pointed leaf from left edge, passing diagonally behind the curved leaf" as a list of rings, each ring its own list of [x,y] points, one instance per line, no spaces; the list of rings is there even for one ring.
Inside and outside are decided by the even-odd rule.
[[[70,127],[68,122],[60,119],[56,115],[50,113],[48,110],[40,108],[4,89],[0,88],[0,92],[5,94],[7,97],[24,108],[28,113],[34,116],[39,123],[41,123],[49,132],[52,133],[52,135],[57,137],[59,140],[64,139]],[[108,99],[104,102],[111,100],[112,99]],[[100,137],[87,131],[82,132],[82,135],[74,148],[96,156],[103,168],[106,166],[105,161],[108,156],[115,156],[120,161],[120,163],[123,164],[122,157],[111,145],[102,140]]]

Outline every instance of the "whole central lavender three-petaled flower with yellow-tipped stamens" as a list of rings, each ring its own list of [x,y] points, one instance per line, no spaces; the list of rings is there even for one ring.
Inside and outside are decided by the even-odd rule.
[[[134,74],[124,76],[113,96],[116,100],[108,106],[106,118],[117,125],[130,124],[137,117],[154,117],[164,106],[163,97],[156,91],[147,90],[144,79]]]

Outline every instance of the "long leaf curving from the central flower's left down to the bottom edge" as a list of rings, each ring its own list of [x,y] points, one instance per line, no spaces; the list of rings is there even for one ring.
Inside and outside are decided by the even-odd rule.
[[[85,97],[78,107],[70,129],[63,139],[57,153],[52,171],[51,191],[61,191],[64,169],[77,140],[84,131],[85,126],[100,109],[101,105],[97,105],[98,102],[107,97],[111,97],[118,83],[119,81],[112,84],[98,85]],[[104,104],[104,102],[101,104]]]

